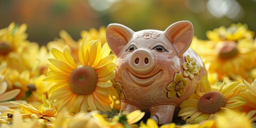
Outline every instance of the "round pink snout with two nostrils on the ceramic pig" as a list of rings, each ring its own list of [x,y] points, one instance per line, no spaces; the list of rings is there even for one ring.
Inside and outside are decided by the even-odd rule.
[[[147,49],[138,49],[132,53],[129,64],[135,73],[147,74],[155,67],[155,57]]]

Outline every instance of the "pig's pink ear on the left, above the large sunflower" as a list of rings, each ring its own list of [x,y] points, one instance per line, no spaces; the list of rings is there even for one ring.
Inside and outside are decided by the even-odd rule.
[[[118,56],[129,42],[134,31],[118,23],[112,23],[106,28],[106,38],[111,51]]]

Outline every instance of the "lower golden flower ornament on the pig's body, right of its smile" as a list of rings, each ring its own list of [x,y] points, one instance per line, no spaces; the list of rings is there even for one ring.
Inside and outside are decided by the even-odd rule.
[[[188,79],[183,78],[182,73],[175,73],[174,81],[167,86],[167,97],[173,98],[176,94],[182,97],[185,92],[185,87],[188,85]]]

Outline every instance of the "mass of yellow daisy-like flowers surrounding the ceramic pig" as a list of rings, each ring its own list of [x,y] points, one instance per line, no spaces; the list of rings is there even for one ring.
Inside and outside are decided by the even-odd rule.
[[[256,127],[256,40],[245,24],[193,38],[208,74],[164,125],[140,110],[119,114],[105,27],[82,30],[77,41],[61,30],[46,45],[28,41],[26,30],[14,22],[0,30],[0,127]]]

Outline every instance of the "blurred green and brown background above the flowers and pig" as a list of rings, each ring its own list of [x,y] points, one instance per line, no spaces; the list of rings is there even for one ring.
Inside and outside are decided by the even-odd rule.
[[[11,22],[26,23],[28,40],[41,45],[66,30],[75,40],[81,30],[122,23],[138,31],[165,30],[189,20],[195,36],[231,23],[246,23],[256,31],[256,0],[1,0],[0,29]]]

